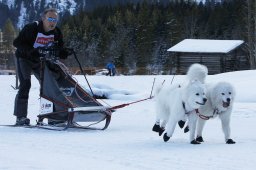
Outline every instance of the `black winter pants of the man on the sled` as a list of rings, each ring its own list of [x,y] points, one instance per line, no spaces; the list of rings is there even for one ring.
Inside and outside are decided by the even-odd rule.
[[[34,63],[27,59],[17,58],[16,67],[20,85],[15,98],[14,115],[17,117],[27,117],[29,90],[31,87],[31,73],[34,73],[36,78],[39,80],[40,62]]]

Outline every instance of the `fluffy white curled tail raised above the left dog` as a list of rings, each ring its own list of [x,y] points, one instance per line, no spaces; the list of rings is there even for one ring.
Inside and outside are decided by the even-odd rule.
[[[208,69],[202,64],[192,64],[187,72],[187,77],[189,81],[198,80],[201,83],[205,82],[205,78],[208,75]]]

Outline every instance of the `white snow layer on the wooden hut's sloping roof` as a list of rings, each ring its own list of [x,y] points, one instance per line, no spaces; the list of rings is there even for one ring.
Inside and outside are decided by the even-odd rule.
[[[228,53],[243,44],[242,40],[185,39],[167,51],[191,53]]]

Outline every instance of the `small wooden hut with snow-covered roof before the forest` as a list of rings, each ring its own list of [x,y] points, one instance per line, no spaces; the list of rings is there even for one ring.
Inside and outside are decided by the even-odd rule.
[[[171,74],[185,74],[193,63],[204,64],[209,74],[249,69],[242,40],[185,39],[167,51],[172,53]]]

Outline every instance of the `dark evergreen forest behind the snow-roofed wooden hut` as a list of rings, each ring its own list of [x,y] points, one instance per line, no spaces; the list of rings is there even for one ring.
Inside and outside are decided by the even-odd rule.
[[[144,1],[80,10],[64,15],[59,27],[84,68],[104,68],[113,61],[123,74],[168,74],[172,56],[167,49],[183,39],[228,39],[245,41],[254,69],[255,9],[254,0]],[[3,32],[14,29],[6,27]],[[77,67],[72,57],[66,64]]]

